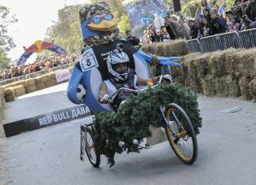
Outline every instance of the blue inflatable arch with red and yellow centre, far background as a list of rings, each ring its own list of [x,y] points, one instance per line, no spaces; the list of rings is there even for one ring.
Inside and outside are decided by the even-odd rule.
[[[36,52],[36,54],[40,54],[43,50],[51,50],[57,54],[66,54],[66,50],[63,50],[62,47],[56,45],[55,43],[37,40],[25,50],[19,61],[17,61],[17,65],[23,65],[28,57],[30,57],[33,53]]]

